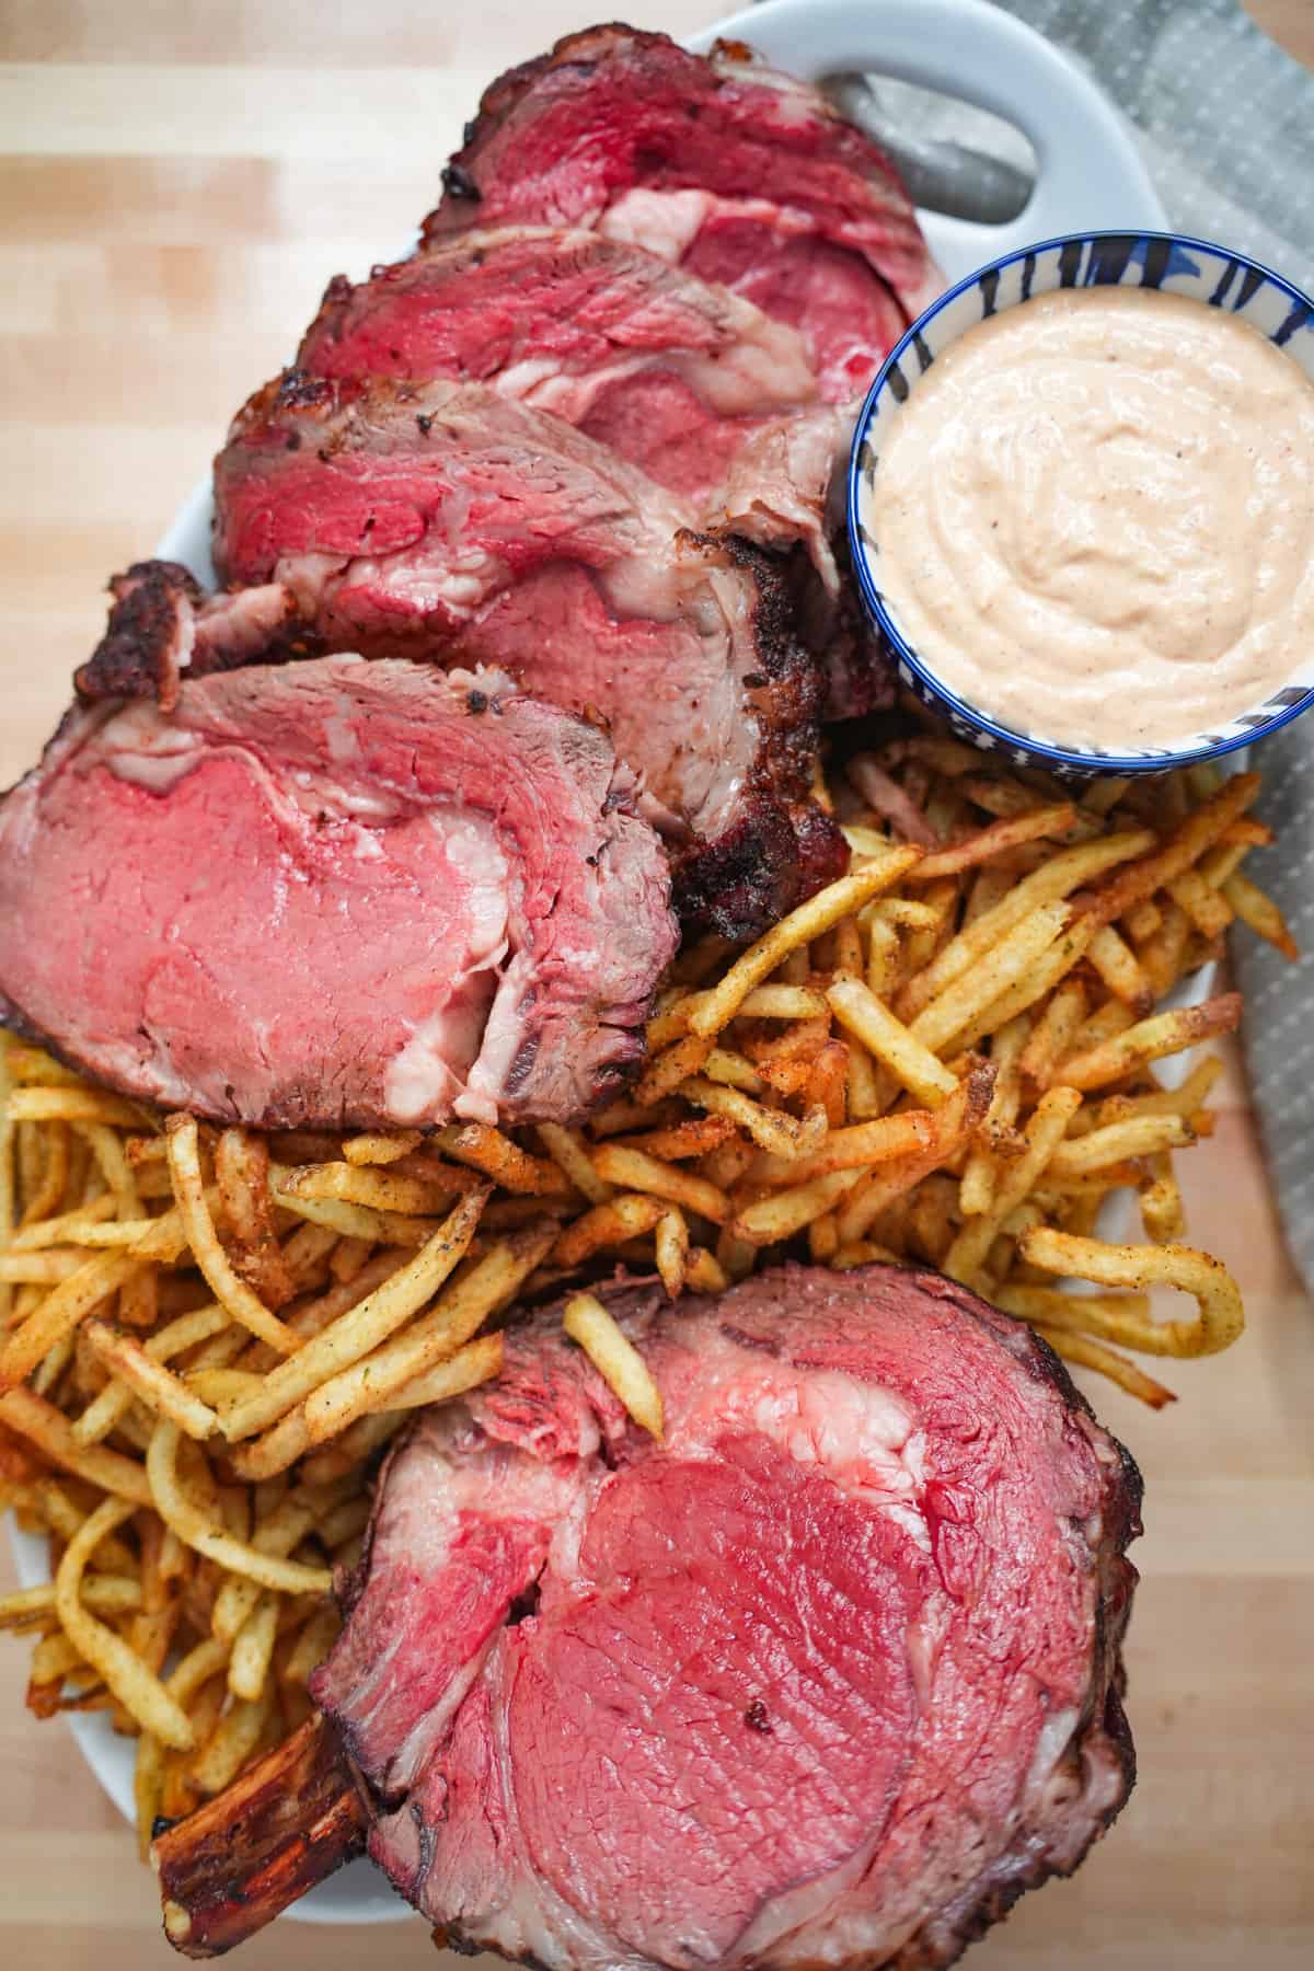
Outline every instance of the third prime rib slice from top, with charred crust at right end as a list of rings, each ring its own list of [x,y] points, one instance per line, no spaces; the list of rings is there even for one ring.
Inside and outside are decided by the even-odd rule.
[[[297,371],[215,465],[215,564],[329,648],[489,662],[601,712],[674,836],[682,911],[747,936],[845,861],[812,802],[820,682],[782,578],[609,445],[485,384]]]

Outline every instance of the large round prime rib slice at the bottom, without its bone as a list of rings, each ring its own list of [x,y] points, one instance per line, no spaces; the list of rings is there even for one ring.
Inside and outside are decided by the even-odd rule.
[[[370,1853],[548,1971],[952,1963],[1129,1794],[1135,1466],[940,1275],[605,1297],[662,1443],[550,1309],[386,1466],[313,1679]]]

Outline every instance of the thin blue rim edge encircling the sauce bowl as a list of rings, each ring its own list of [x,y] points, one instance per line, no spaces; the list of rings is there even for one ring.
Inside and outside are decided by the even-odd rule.
[[[952,288],[946,288],[944,294],[936,296],[930,307],[926,307],[918,315],[918,319],[908,329],[904,329],[904,333],[894,343],[888,357],[877,371],[871,388],[863,398],[863,408],[853,428],[853,445],[849,449],[849,499],[847,499],[849,554],[853,562],[853,574],[857,578],[857,585],[861,589],[867,611],[881,625],[881,631],[888,639],[900,664],[906,664],[908,670],[916,678],[920,678],[922,684],[930,692],[934,692],[934,696],[953,714],[957,714],[957,717],[963,719],[967,725],[977,727],[977,731],[981,733],[989,733],[991,739],[997,739],[1001,747],[1022,749],[1036,761],[1052,761],[1054,765],[1070,769],[1085,769],[1087,773],[1099,773],[1099,775],[1170,773],[1176,767],[1192,767],[1206,759],[1221,759],[1225,753],[1237,753],[1241,751],[1241,747],[1249,747],[1257,739],[1267,739],[1269,733],[1281,731],[1282,725],[1290,725],[1292,719],[1300,717],[1302,712],[1308,712],[1310,706],[1314,706],[1314,686],[1310,686],[1310,690],[1306,690],[1298,700],[1294,700],[1294,704],[1282,706],[1281,712],[1275,712],[1273,717],[1265,719],[1263,725],[1255,725],[1249,731],[1233,733],[1229,739],[1212,743],[1196,743],[1194,739],[1186,739],[1180,747],[1164,747],[1162,753],[1156,753],[1154,757],[1147,757],[1145,753],[1137,755],[1115,755],[1115,753],[1093,753],[1093,751],[1085,753],[1080,747],[1054,745],[1048,739],[1032,737],[1030,733],[1017,731],[1013,725],[1001,725],[997,719],[989,717],[989,714],[981,712],[969,700],[959,698],[957,692],[952,692],[950,686],[930,668],[930,664],[926,664],[924,658],[916,654],[908,639],[894,623],[892,613],[885,603],[885,597],[877,589],[867,560],[867,544],[863,542],[857,518],[859,481],[863,473],[861,451],[867,440],[867,428],[871,424],[877,404],[885,394],[890,371],[898,369],[908,349],[914,349],[926,323],[934,321],[936,315],[940,315],[961,294],[967,294],[971,288],[979,286],[981,278],[987,274],[997,274],[1003,272],[1005,268],[1017,266],[1017,262],[1026,260],[1028,254],[1054,252],[1056,248],[1062,250],[1064,246],[1076,246],[1076,244],[1085,246],[1099,240],[1133,242],[1133,252],[1135,246],[1147,244],[1150,240],[1162,240],[1166,246],[1180,248],[1182,252],[1200,252],[1219,260],[1229,260],[1239,270],[1245,270],[1249,274],[1259,274],[1261,284],[1267,282],[1273,288],[1279,288],[1290,300],[1292,304],[1290,333],[1294,333],[1294,329],[1298,327],[1306,325],[1314,327],[1314,300],[1310,300],[1308,294],[1304,294],[1290,280],[1286,280],[1284,274],[1279,274],[1271,266],[1265,266],[1263,260],[1253,260],[1249,254],[1235,252],[1231,246],[1223,246],[1219,240],[1202,240],[1196,238],[1192,233],[1154,233],[1147,227],[1125,227],[1125,229],[1107,227],[1103,231],[1089,231],[1089,233],[1085,231],[1058,233],[1048,240],[1034,240],[1030,246],[1017,246],[1013,252],[1001,254],[999,260],[987,260],[971,274],[965,274]]]

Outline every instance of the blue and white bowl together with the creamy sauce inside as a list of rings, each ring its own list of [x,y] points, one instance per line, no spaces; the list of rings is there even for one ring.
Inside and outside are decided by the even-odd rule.
[[[981,268],[887,357],[849,540],[900,680],[1066,779],[1164,773],[1314,704],[1314,302],[1168,233]]]

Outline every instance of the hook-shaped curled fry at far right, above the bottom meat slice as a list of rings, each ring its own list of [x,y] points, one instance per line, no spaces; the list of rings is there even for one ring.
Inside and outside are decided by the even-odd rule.
[[[1107,1246],[1103,1240],[1038,1226],[1022,1236],[1018,1250],[1028,1265],[1046,1273],[1070,1273],[1101,1287],[1178,1287],[1194,1295],[1200,1307],[1194,1321],[1152,1321],[1149,1315],[1127,1313],[1117,1323],[1093,1326],[1101,1338],[1125,1342],[1145,1354],[1217,1354],[1245,1326],[1235,1279],[1221,1259],[1196,1252],[1194,1246]]]

